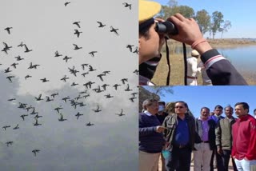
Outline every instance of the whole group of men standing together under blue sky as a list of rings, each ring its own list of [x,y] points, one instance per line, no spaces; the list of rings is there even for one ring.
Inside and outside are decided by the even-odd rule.
[[[256,119],[249,114],[249,105],[238,102],[234,109],[216,105],[202,107],[200,117],[190,114],[185,101],[174,103],[173,113],[163,111],[163,101],[146,99],[139,113],[139,170],[158,170],[161,154],[162,170],[189,171],[194,153],[194,170],[228,170],[230,157],[234,170],[249,171],[256,165]],[[233,117],[233,113],[238,118]],[[256,109],[254,109],[256,113]],[[166,154],[167,152],[167,154]]]

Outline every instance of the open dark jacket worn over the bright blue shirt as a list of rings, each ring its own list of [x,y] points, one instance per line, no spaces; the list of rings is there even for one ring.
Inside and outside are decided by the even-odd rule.
[[[195,121],[194,117],[190,116],[190,114],[186,113],[185,117],[189,132],[190,132],[190,149],[194,149],[194,133],[195,133]],[[169,114],[162,123],[162,126],[166,127],[167,129],[164,130],[163,135],[167,142],[170,145],[167,146],[167,149],[173,149],[173,141],[175,136],[176,127],[178,125],[178,115],[176,113]]]

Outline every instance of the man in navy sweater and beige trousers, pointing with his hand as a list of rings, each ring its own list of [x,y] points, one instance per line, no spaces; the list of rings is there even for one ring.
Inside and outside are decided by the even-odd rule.
[[[164,145],[161,126],[158,118],[158,101],[146,99],[142,103],[143,113],[139,113],[139,171],[157,171],[158,160]]]

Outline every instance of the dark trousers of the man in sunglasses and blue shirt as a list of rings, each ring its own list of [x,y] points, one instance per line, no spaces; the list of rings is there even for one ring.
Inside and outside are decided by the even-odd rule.
[[[190,171],[191,149],[173,147],[171,155],[166,158],[166,171]]]

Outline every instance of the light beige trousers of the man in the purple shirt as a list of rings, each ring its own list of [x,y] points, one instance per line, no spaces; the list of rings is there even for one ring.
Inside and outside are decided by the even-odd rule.
[[[195,150],[194,153],[194,170],[199,171],[210,171],[210,158],[213,153],[210,150],[209,143],[201,142],[194,144]]]

